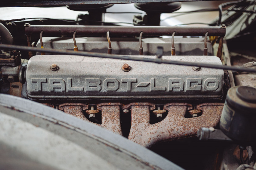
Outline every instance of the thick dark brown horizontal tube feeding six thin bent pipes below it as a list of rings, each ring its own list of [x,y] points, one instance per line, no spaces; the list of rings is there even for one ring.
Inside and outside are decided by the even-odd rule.
[[[116,36],[140,36],[143,31],[143,36],[204,36],[208,32],[208,36],[224,37],[226,29],[219,26],[207,27],[191,27],[191,26],[84,26],[84,25],[30,25],[25,27],[25,34],[40,34],[44,31],[43,36],[105,36],[109,31],[110,35]]]

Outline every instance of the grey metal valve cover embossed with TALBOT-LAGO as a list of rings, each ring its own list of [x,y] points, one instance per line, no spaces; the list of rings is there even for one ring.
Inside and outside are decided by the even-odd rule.
[[[155,58],[156,56],[138,56]],[[222,65],[216,56],[162,56],[163,60]],[[130,71],[123,71],[123,64]],[[58,69],[51,70],[52,64]],[[219,69],[84,56],[33,56],[27,65],[31,99],[191,99],[222,97]]]

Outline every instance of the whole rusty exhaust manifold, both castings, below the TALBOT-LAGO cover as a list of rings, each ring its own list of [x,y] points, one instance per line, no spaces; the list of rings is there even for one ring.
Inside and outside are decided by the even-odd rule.
[[[202,111],[199,117],[185,118],[192,104],[169,103],[164,105],[168,110],[167,116],[160,122],[150,124],[150,111],[155,109],[151,103],[101,103],[97,109],[101,110],[102,123],[89,121],[83,114],[88,109],[87,104],[65,103],[59,105],[59,110],[71,114],[85,121],[104,127],[114,133],[122,135],[120,123],[120,109],[131,110],[131,129],[128,139],[147,148],[160,141],[171,141],[195,136],[200,127],[215,127],[220,120],[223,109],[222,103],[198,104],[196,109]]]

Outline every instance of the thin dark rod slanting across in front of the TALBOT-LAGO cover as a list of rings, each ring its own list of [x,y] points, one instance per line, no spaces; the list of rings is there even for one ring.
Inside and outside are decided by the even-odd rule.
[[[119,60],[133,60],[133,61],[144,61],[151,63],[165,63],[165,64],[176,64],[183,66],[199,66],[206,68],[215,68],[215,69],[223,69],[223,70],[234,70],[234,71],[244,71],[244,72],[254,72],[256,73],[256,69],[244,68],[244,67],[234,67],[234,66],[220,66],[215,64],[205,64],[205,63],[193,63],[193,62],[185,62],[185,61],[173,61],[173,60],[162,60],[162,58],[143,58],[136,56],[120,56],[115,54],[105,54],[105,53],[93,53],[93,52],[85,52],[85,51],[70,51],[70,50],[62,50],[62,49],[39,49],[35,47],[27,47],[27,46],[16,46],[16,45],[7,45],[0,44],[0,49],[19,49],[26,51],[39,51],[45,53],[58,53],[63,55],[76,55],[76,56],[89,56],[89,57],[101,57],[101,58],[111,58],[111,59],[119,59]],[[205,56],[207,57],[207,56]]]

